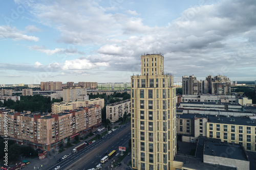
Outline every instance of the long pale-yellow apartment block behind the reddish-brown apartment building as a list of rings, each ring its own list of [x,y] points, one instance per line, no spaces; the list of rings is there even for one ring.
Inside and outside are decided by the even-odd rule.
[[[52,114],[58,114],[64,110],[75,110],[79,107],[87,107],[91,105],[99,105],[102,109],[104,107],[104,99],[96,98],[86,101],[56,102],[52,104]]]

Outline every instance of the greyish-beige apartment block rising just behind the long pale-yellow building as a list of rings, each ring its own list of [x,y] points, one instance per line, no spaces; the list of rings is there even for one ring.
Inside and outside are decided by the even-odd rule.
[[[69,101],[77,101],[77,97],[79,95],[87,95],[87,89],[81,86],[72,86],[63,88],[63,101],[69,102]]]

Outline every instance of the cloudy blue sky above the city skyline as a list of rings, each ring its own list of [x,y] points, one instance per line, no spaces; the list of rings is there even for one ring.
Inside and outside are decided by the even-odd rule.
[[[0,84],[131,82],[164,72],[256,80],[255,0],[0,0]]]

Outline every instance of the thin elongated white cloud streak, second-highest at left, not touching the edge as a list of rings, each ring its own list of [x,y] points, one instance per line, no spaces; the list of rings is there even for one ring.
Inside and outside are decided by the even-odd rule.
[[[30,50],[35,50],[41,53],[46,53],[47,55],[53,55],[53,54],[67,54],[67,55],[75,55],[75,54],[81,54],[83,55],[83,52],[77,51],[76,48],[70,48],[70,49],[64,49],[64,48],[55,48],[54,50],[48,50],[45,46],[38,46],[33,45],[29,46]]]

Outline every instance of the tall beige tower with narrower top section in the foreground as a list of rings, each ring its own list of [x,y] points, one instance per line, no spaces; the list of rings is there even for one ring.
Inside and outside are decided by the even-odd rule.
[[[163,72],[163,56],[141,56],[141,76],[131,77],[132,167],[170,169],[176,151],[176,88]]]

